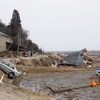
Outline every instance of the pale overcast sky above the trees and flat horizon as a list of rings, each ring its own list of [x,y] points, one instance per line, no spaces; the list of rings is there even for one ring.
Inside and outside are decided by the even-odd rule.
[[[44,51],[100,50],[100,0],[2,0],[0,19],[6,25],[14,9]]]

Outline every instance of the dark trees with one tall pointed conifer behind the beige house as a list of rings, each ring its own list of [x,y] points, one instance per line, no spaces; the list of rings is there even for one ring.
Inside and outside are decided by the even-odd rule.
[[[13,44],[24,47],[25,50],[42,53],[37,44],[28,39],[28,31],[23,29],[18,10],[14,9],[8,25],[0,20],[0,31],[13,38]]]

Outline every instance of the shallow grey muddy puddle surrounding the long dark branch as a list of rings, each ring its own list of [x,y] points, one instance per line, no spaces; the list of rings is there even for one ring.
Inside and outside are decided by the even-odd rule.
[[[51,90],[45,88],[45,86],[52,87],[53,89],[86,86],[91,83],[91,76],[92,75],[90,73],[84,72],[44,75],[34,77],[32,79],[22,80],[20,87],[46,93],[47,95],[56,98],[56,100],[99,100],[100,87],[99,89],[97,87],[88,87],[84,89],[77,89],[72,92],[63,92],[58,94],[53,94]]]

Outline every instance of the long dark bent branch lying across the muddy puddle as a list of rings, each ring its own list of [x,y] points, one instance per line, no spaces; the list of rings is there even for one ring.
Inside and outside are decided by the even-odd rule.
[[[87,88],[87,87],[92,87],[91,85],[86,85],[86,86],[81,86],[81,87],[75,87],[75,88],[69,88],[69,89],[53,89],[50,86],[45,86],[45,88],[50,89],[53,93],[61,93],[61,92],[70,92],[76,89],[81,89],[81,88]]]

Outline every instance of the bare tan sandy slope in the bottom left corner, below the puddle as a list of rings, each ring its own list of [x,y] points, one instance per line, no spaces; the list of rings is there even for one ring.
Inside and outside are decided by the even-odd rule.
[[[12,85],[0,85],[0,100],[54,100],[44,94],[20,89]]]

